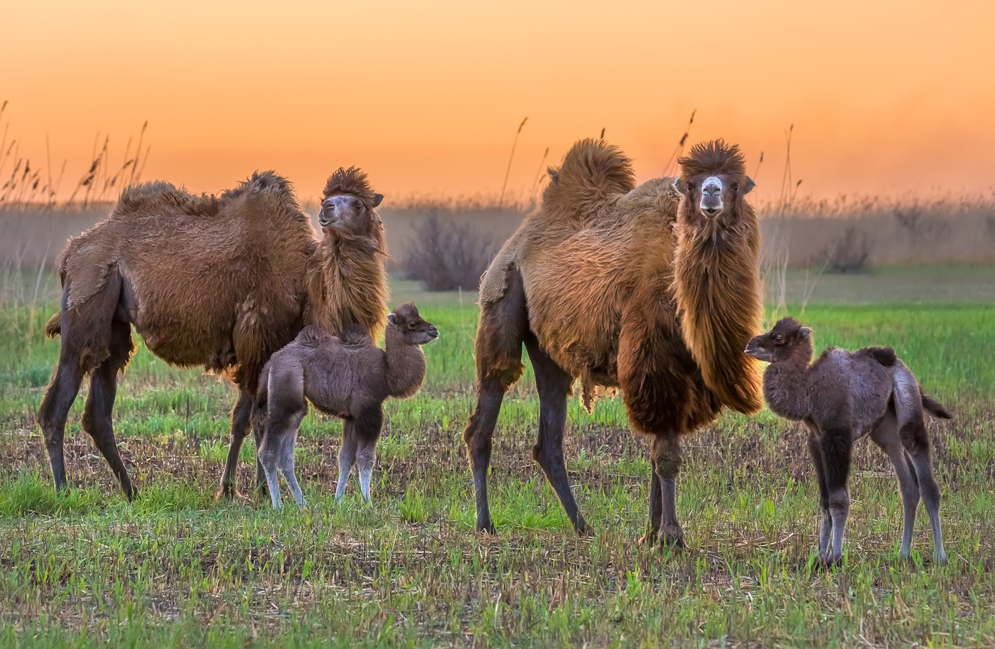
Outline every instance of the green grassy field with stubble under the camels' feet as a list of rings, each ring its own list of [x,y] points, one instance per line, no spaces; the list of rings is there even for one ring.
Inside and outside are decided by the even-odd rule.
[[[476,296],[410,283],[397,283],[395,298],[414,299],[442,336],[425,348],[421,394],[388,402],[372,507],[355,485],[334,502],[341,427],[313,414],[298,444],[305,509],[214,502],[234,391],[144,347],[114,420],[136,501],[124,501],[80,430],[82,398],[67,434],[73,490],[57,497],[34,414],[58,355],[41,335],[53,308],[8,301],[0,645],[995,646],[993,286],[992,269],[824,277],[814,290],[802,275],[788,278],[786,311],[815,329],[819,347],[894,345],[957,415],[929,424],[949,564],[931,562],[921,508],[913,557],[898,558],[895,478],[862,442],[848,555],[833,570],[815,567],[804,435],[769,411],[726,414],[687,440],[678,507],[690,547],[672,553],[636,544],[649,466],[621,403],[601,401],[587,415],[572,401],[568,468],[596,530],[577,539],[531,463],[530,371],[498,422],[498,535],[475,534],[460,436],[473,406]],[[792,303],[805,297],[802,314]],[[245,493],[253,457],[247,443]]]

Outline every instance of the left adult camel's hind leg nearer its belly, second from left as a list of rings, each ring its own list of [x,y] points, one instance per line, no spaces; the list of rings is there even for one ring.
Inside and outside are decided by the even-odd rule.
[[[115,320],[110,328],[110,355],[91,373],[90,394],[83,413],[83,429],[94,439],[100,454],[117,478],[121,491],[131,501],[136,492],[117,452],[111,412],[117,395],[117,372],[131,358],[134,343],[131,341],[131,324]]]

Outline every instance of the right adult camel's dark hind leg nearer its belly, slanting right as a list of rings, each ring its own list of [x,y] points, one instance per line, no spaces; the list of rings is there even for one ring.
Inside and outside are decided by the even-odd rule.
[[[535,387],[539,392],[539,435],[532,447],[532,459],[542,467],[567,517],[579,535],[590,528],[577,508],[570,489],[570,480],[563,461],[563,432],[566,428],[566,401],[573,385],[573,376],[557,365],[539,347],[534,335],[525,336],[525,348],[535,371]]]

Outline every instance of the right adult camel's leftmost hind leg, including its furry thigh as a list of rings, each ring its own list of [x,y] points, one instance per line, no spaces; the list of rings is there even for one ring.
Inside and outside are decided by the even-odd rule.
[[[488,273],[496,272],[491,269]],[[521,376],[521,343],[528,329],[525,293],[517,269],[505,272],[504,295],[482,303],[477,329],[477,407],[463,431],[474,473],[477,496],[477,531],[495,534],[488,503],[488,470],[491,467],[497,415],[504,392]]]

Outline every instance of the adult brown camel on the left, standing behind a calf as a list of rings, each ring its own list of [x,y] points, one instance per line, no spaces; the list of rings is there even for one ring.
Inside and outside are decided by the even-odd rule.
[[[386,249],[373,211],[382,199],[365,173],[339,169],[324,188],[318,238],[291,183],[271,171],[217,197],[164,182],[125,189],[110,216],[72,239],[59,261],[62,311],[47,332],[62,334],[62,350],[39,410],[56,488],[66,488],[66,418],[89,372],[83,428],[124,494],[134,495],[111,428],[116,375],[134,351],[133,324],[160,358],[202,364],[239,387],[219,492],[233,496],[253,395],[270,355],[306,324],[382,331]],[[257,462],[257,485],[264,483]]]

